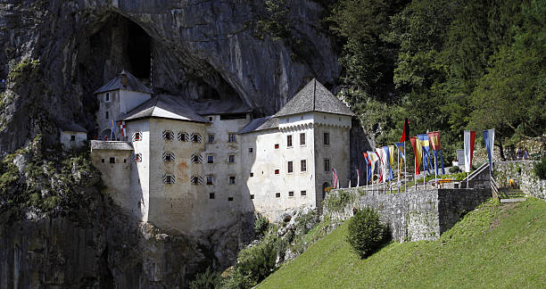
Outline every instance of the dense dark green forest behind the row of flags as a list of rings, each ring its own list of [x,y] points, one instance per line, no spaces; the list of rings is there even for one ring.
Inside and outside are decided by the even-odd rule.
[[[546,0],[340,0],[324,21],[341,49],[340,94],[376,145],[441,131],[445,161],[463,131],[495,146],[546,144]]]

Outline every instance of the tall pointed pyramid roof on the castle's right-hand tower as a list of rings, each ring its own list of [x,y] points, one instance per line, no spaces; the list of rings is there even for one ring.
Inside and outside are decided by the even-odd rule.
[[[319,111],[353,116],[354,113],[337,97],[313,78],[305,87],[278,111],[275,116],[285,116],[309,111]]]

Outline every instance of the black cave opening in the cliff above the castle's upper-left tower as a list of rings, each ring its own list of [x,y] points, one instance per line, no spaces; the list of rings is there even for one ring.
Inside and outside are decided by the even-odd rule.
[[[133,21],[128,21],[127,54],[136,78],[150,78],[152,69],[151,37]]]

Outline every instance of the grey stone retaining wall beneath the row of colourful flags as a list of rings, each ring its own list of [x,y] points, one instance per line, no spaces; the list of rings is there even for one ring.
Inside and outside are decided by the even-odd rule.
[[[354,187],[329,192],[323,202],[323,216],[350,219],[353,209],[372,207],[391,227],[393,240],[435,240],[490,197],[491,190],[484,188],[383,194]]]

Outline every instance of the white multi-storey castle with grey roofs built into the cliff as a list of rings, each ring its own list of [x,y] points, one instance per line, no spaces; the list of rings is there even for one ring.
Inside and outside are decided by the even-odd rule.
[[[153,95],[125,71],[95,95],[100,135],[91,155],[106,193],[164,229],[198,235],[241,213],[275,219],[319,207],[332,168],[349,178],[354,114],[316,79],[259,119],[240,101]]]

